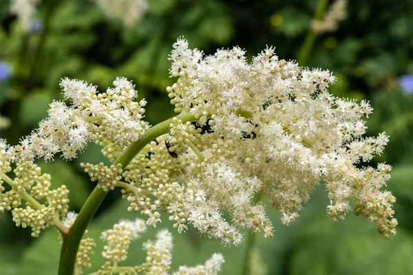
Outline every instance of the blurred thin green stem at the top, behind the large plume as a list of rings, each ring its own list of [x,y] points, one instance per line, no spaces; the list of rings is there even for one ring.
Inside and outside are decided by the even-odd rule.
[[[323,19],[324,12],[326,11],[328,4],[328,0],[318,0],[317,8],[315,10],[315,14],[313,20],[321,20]],[[299,49],[297,62],[301,67],[306,66],[308,61],[308,56],[310,56],[310,52],[313,49],[313,45],[315,43],[315,39],[317,38],[317,33],[313,30],[313,28],[309,28],[306,36],[306,40],[304,40],[303,45]]]

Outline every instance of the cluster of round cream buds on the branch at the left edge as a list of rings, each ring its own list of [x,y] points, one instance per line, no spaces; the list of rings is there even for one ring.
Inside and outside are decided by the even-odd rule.
[[[69,190],[64,185],[50,190],[50,175],[42,174],[31,159],[14,157],[16,151],[21,151],[20,145],[10,148],[0,140],[0,212],[11,211],[17,226],[30,227],[32,236],[39,236],[41,230],[60,222],[59,217],[65,217]],[[14,179],[6,175],[12,170],[12,161],[16,162]],[[7,191],[5,182],[9,186]],[[22,199],[26,201],[25,207],[21,207]]]

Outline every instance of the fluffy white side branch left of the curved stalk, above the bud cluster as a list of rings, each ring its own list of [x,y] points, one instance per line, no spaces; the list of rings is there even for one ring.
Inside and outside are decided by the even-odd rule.
[[[22,140],[19,151],[12,148],[12,157],[44,157],[47,161],[62,153],[65,159],[72,159],[92,141],[101,146],[116,144],[119,150],[105,151],[105,155],[111,159],[120,155],[121,148],[138,140],[147,129],[147,122],[141,121],[146,101],[134,102],[137,94],[126,78],[116,78],[114,86],[98,94],[92,85],[63,79],[61,87],[72,106],[52,102],[49,117]]]

